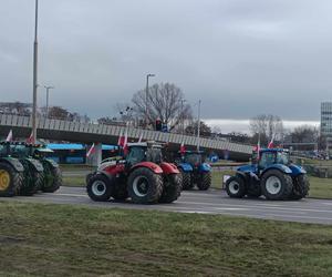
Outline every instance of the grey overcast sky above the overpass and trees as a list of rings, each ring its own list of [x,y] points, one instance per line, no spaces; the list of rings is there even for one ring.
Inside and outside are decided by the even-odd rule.
[[[40,84],[51,104],[115,115],[173,82],[205,119],[317,121],[332,101],[331,0],[40,0]],[[34,0],[1,1],[0,101],[32,99]],[[44,105],[44,90],[39,91]]]

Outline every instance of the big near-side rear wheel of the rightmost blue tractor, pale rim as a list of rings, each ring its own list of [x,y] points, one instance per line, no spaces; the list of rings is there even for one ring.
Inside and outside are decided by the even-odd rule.
[[[284,201],[291,196],[293,182],[290,175],[278,170],[270,170],[261,178],[263,196],[270,201]]]

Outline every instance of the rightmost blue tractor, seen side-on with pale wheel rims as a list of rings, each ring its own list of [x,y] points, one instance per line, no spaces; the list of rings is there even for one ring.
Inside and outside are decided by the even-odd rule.
[[[271,201],[301,199],[309,188],[307,172],[294,165],[283,148],[262,148],[253,153],[252,163],[239,167],[226,182],[227,194],[235,198],[263,195]]]

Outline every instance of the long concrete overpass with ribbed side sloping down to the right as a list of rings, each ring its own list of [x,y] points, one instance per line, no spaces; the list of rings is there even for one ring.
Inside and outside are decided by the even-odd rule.
[[[6,136],[8,132],[12,130],[14,137],[29,137],[31,127],[32,119],[30,116],[0,114],[0,136]],[[125,130],[125,126],[118,125],[80,123],[45,117],[40,117],[38,120],[38,138],[52,141],[80,142],[85,144],[116,144],[120,134],[124,134]],[[220,156],[224,156],[225,151],[227,151],[229,153],[229,158],[235,161],[248,161],[252,151],[252,146],[250,145],[128,127],[129,142],[137,141],[141,135],[143,141],[168,143],[169,147],[173,150],[179,150],[183,142],[187,148],[195,148],[199,140],[201,150],[214,151]]]

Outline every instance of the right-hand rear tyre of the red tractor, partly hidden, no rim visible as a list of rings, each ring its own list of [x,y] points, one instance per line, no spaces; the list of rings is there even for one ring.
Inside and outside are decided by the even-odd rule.
[[[159,203],[175,202],[181,193],[181,176],[180,174],[172,174],[165,177],[163,194],[159,198]]]

